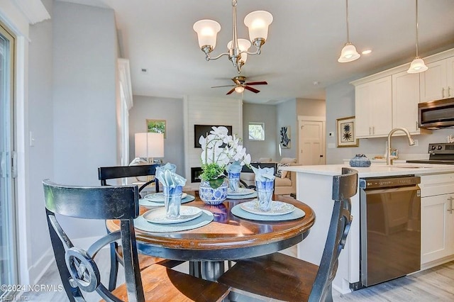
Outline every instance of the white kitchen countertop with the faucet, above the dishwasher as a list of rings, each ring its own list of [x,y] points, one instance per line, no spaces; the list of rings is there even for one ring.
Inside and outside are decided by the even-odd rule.
[[[282,170],[306,173],[306,174],[319,174],[319,175],[339,175],[342,173],[342,167],[348,167],[345,164],[323,164],[314,166],[289,166],[280,167]],[[454,164],[394,164],[392,166],[386,165],[372,165],[370,167],[351,167],[358,171],[359,177],[387,177],[392,175],[406,175],[406,174],[441,174],[441,173],[454,173]]]

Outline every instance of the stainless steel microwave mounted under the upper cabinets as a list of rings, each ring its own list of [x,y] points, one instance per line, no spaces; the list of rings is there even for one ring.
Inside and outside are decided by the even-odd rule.
[[[420,128],[454,128],[454,98],[418,104]]]

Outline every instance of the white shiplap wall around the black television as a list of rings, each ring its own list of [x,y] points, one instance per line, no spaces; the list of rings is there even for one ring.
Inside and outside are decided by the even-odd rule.
[[[243,137],[243,100],[184,96],[184,163],[187,187],[198,188],[191,182],[191,167],[200,167],[201,149],[194,147],[194,125],[231,125],[233,134]]]

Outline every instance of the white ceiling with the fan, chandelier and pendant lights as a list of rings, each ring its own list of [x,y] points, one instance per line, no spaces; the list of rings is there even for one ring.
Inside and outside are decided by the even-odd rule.
[[[214,55],[231,40],[231,0],[65,0],[114,9],[121,55],[130,60],[134,95],[181,98],[226,96],[237,75],[227,57],[206,62],[194,22],[221,23]],[[345,42],[345,0],[238,0],[238,36],[248,38],[243,18],[270,11],[262,54],[249,56],[242,70],[260,93],[243,93],[245,102],[276,104],[294,98],[324,99],[325,88],[411,62],[416,52],[415,0],[350,0],[350,40],[370,55],[337,62]],[[454,47],[454,0],[419,0],[419,54]],[[254,47],[251,47],[251,50]],[[141,70],[146,69],[143,73]],[[314,82],[319,82],[314,85]]]

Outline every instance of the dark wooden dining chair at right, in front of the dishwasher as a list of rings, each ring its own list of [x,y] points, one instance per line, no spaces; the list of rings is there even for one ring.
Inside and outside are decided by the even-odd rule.
[[[333,212],[320,265],[276,252],[239,260],[218,282],[232,287],[229,299],[248,295],[282,301],[333,301],[331,284],[345,245],[352,216],[350,198],[358,188],[358,172],[343,168],[333,177]]]

